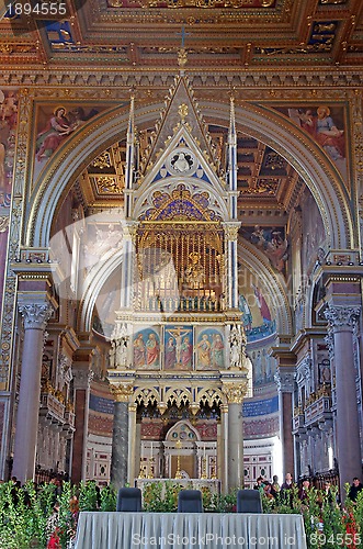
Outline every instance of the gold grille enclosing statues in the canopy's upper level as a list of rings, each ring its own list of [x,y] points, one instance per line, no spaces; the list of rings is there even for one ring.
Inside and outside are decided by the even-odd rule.
[[[144,223],[136,246],[136,309],[223,309],[224,232],[218,222]]]

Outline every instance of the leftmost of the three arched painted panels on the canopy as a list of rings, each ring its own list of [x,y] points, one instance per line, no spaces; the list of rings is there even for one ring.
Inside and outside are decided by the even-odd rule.
[[[133,341],[134,368],[160,368],[160,336],[156,329],[136,332]]]

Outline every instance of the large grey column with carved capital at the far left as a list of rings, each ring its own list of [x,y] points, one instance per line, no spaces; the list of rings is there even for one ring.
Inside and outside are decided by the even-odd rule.
[[[34,478],[44,332],[53,309],[48,302],[19,304],[24,318],[24,344],[12,474],[22,483]]]

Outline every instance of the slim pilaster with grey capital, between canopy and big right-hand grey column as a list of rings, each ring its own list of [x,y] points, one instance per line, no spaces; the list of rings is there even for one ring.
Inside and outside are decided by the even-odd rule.
[[[283,478],[286,473],[294,477],[294,438],[293,438],[293,392],[294,369],[279,367],[275,373],[279,391],[280,439],[283,452]]]

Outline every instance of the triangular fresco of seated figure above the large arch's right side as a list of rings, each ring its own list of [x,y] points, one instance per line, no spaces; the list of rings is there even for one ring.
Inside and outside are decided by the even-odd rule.
[[[320,103],[275,109],[307,132],[345,175],[347,127],[343,107]]]

